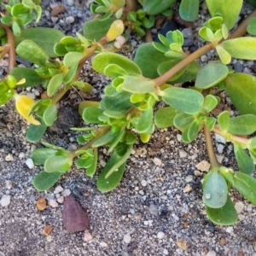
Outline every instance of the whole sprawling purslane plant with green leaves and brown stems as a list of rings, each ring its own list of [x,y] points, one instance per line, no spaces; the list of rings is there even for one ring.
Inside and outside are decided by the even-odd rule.
[[[44,148],[32,152],[34,163],[44,166],[44,171],[34,177],[33,185],[38,190],[49,189],[73,162],[92,177],[97,169],[98,148],[104,146],[111,155],[97,179],[97,188],[108,192],[120,183],[138,137],[147,143],[155,127],[175,126],[182,132],[183,143],[191,143],[204,130],[211,162],[202,181],[207,217],[215,224],[234,224],[237,213],[230,200],[231,188],[256,205],[256,179],[252,176],[256,163],[256,82],[253,75],[236,73],[228,65],[231,58],[256,60],[256,38],[242,37],[246,32],[254,33],[256,11],[230,33],[243,1],[232,0],[231,13],[230,1],[207,0],[212,18],[199,31],[206,41],[204,46],[188,55],[183,49],[183,34],[176,30],[160,34],[160,43],[142,44],[131,61],[114,52],[125,44],[132,31],[139,36],[148,32],[156,15],[172,15],[170,7],[175,1],[94,2],[92,13],[102,16],[86,22],[83,35],[77,33],[76,38],[49,28],[23,29],[31,22],[33,9],[38,20],[38,1],[10,1],[1,20],[1,58],[9,53],[9,74],[0,81],[0,105],[15,99],[17,112],[31,123],[26,133],[29,141],[38,142],[47,127],[54,124],[56,104],[71,86],[90,92],[92,85],[80,81],[79,73],[92,55],[96,54],[92,68],[112,79],[101,102],[84,101],[79,105],[79,113],[87,124],[72,128],[82,133],[77,138],[79,148],[67,150],[42,142]],[[198,1],[186,0],[180,3],[180,15],[187,15],[183,19],[195,20],[197,4]],[[198,59],[210,50],[216,51],[218,59],[201,66]],[[15,67],[15,54],[36,68]],[[195,85],[182,86],[190,81],[195,81]],[[34,101],[17,92],[20,87],[37,84],[43,84],[46,98]],[[215,117],[212,110],[220,102],[216,90],[225,90],[241,114],[230,117],[228,111],[223,111]],[[161,101],[166,107],[154,111]],[[238,171],[218,163],[211,131],[233,144]]]

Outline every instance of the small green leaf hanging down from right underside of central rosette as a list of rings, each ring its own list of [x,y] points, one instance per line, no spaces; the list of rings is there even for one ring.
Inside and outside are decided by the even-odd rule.
[[[139,133],[146,133],[153,122],[153,109],[148,108],[142,116],[132,119],[132,123]]]

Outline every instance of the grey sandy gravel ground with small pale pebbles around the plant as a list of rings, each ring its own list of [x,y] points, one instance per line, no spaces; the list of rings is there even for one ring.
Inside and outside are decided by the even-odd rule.
[[[52,9],[59,3],[65,6],[65,11],[51,17]],[[90,19],[84,3],[88,4],[87,1],[43,0],[45,10],[40,26],[55,27],[67,35],[81,32],[84,20]],[[195,21],[194,34],[207,17],[205,12]],[[174,26],[170,22],[166,24],[171,25]],[[190,31],[184,30],[190,38]],[[140,43],[133,40],[131,44],[137,47]],[[201,45],[196,43],[194,47]],[[205,56],[208,60],[215,57],[212,52]],[[251,72],[249,61],[236,63],[239,63],[237,69],[247,67],[246,71]],[[81,79],[94,85],[91,95],[94,98],[99,98],[102,88],[109,84],[108,79],[90,69],[90,62],[85,64],[82,76]],[[38,97],[42,90],[29,92]],[[81,100],[74,90],[70,95],[77,96],[70,97],[74,105]],[[198,166],[202,160],[208,161],[202,134],[195,142],[185,144],[176,129],[164,129],[156,131],[147,144],[137,143],[135,154],[127,162],[125,177],[111,193],[102,194],[96,189],[98,172],[90,178],[75,167],[54,188],[38,192],[32,186],[32,177],[42,168],[30,169],[26,160],[32,148],[41,145],[26,141],[26,121],[14,109],[14,102],[0,108],[0,256],[255,255],[256,207],[241,195],[230,194],[240,212],[234,226],[215,226],[206,217],[201,200],[202,176],[195,175],[197,169],[208,171],[208,167]],[[79,126],[81,120],[67,100],[61,102],[59,113],[55,127],[49,129],[44,139],[64,148],[75,147],[70,138],[77,134],[69,131],[69,127]],[[224,144],[223,139],[218,143]],[[102,152],[98,170],[106,164]],[[225,166],[236,168],[234,154],[226,146],[218,153],[218,159]],[[62,203],[67,195],[75,196],[88,214],[90,230],[68,234],[63,228]],[[36,207],[40,197],[48,200],[43,212]],[[58,206],[51,207],[53,201]],[[54,227],[50,236],[42,234],[46,225]],[[220,243],[223,238],[225,244]]]

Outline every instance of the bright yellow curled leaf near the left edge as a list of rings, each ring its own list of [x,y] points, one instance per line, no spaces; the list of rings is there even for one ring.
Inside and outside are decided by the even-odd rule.
[[[20,113],[20,115],[32,123],[33,125],[41,125],[40,122],[37,119],[34,119],[32,115],[28,115],[30,109],[32,108],[32,105],[34,104],[34,101],[29,96],[24,95],[15,95],[15,107]]]

